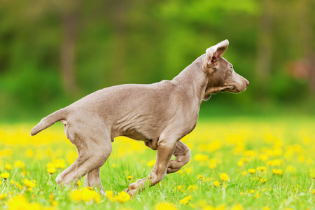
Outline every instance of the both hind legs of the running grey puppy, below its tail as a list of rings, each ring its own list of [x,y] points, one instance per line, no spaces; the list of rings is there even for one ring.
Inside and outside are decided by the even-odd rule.
[[[60,186],[74,186],[82,176],[92,172],[87,181],[89,182],[89,178],[92,177],[91,185],[99,186],[102,190],[99,167],[104,165],[111,154],[111,135],[107,132],[106,127],[95,118],[92,125],[86,125],[82,121],[77,121],[73,125],[67,123],[67,137],[71,143],[76,145],[78,158],[57,176],[56,182]],[[95,177],[97,179],[94,179]]]

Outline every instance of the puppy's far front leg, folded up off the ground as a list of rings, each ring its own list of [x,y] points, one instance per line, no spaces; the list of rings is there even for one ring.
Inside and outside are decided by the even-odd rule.
[[[190,160],[190,149],[186,144],[179,141],[176,144],[176,148],[174,151],[175,160],[169,161],[169,166],[167,167],[167,174],[174,173],[179,171],[181,167],[186,165]]]

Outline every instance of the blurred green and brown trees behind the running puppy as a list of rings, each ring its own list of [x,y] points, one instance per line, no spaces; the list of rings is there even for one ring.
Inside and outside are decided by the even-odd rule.
[[[251,86],[237,97],[218,94],[214,104],[311,107],[314,4],[2,1],[0,117],[28,117],[43,107],[53,111],[110,85],[172,79],[225,38],[230,40],[225,57]]]

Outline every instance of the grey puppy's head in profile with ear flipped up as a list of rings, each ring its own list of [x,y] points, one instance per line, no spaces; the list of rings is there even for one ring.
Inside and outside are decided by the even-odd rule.
[[[249,85],[248,80],[236,73],[232,64],[222,57],[228,45],[229,41],[226,39],[206,50],[203,70],[206,71],[209,81],[204,100],[219,91],[239,93]]]

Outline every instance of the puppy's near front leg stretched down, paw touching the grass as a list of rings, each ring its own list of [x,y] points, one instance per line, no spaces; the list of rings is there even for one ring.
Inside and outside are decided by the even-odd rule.
[[[137,191],[144,190],[146,182],[148,182],[149,186],[154,186],[162,181],[167,174],[167,166],[169,165],[169,160],[171,160],[174,153],[176,143],[177,141],[160,140],[158,142],[158,153],[155,165],[151,174],[144,179],[139,179],[137,182],[130,184],[125,192],[130,196],[134,196]]]

